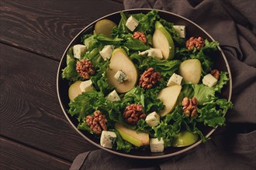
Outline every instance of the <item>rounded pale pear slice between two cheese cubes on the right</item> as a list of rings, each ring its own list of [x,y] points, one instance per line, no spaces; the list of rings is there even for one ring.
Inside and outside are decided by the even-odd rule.
[[[202,66],[199,59],[186,59],[179,66],[178,72],[187,83],[197,84],[201,78]]]

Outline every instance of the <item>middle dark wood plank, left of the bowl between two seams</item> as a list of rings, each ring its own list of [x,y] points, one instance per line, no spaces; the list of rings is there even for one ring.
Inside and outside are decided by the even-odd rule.
[[[50,155],[73,161],[94,150],[81,138],[57,100],[58,62],[0,44],[0,133]]]

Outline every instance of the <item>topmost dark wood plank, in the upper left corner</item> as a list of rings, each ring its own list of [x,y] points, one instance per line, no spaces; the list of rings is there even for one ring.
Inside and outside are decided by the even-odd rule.
[[[95,19],[123,9],[107,0],[2,0],[1,42],[60,60],[69,42]]]

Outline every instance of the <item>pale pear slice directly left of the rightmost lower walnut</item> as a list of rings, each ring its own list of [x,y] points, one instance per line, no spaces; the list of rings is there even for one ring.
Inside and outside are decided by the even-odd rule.
[[[158,99],[160,99],[165,106],[164,110],[160,110],[158,112],[161,117],[164,117],[166,114],[171,113],[171,111],[175,108],[178,95],[179,93],[181,93],[181,90],[182,86],[176,84],[171,87],[165,87],[158,93]]]

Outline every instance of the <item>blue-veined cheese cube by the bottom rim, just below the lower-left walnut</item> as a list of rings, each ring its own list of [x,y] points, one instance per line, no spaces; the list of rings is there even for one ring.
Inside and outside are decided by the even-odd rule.
[[[104,148],[112,148],[116,141],[116,134],[113,131],[102,131],[100,145]]]

